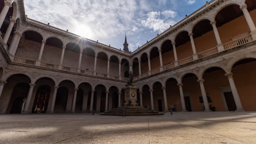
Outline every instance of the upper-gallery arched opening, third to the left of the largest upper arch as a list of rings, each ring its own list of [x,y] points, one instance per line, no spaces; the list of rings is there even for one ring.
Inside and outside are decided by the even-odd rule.
[[[162,53],[162,65],[169,65],[174,63],[174,53],[173,53],[173,46],[171,40],[165,40],[161,46],[161,53]],[[165,69],[164,69],[165,70]]]

